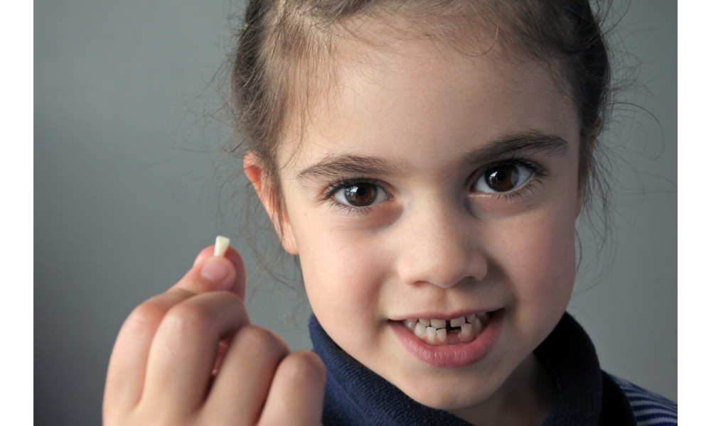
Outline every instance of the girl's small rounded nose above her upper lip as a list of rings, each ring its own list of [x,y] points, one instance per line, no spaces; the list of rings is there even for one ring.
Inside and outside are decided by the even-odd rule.
[[[482,280],[487,262],[476,238],[476,219],[463,209],[432,204],[401,218],[396,266],[400,279],[441,288]]]

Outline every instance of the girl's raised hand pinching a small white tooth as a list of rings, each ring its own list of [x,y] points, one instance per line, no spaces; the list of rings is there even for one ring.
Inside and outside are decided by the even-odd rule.
[[[319,425],[326,370],[250,324],[234,249],[204,249],[173,287],[131,312],[109,361],[105,426]]]

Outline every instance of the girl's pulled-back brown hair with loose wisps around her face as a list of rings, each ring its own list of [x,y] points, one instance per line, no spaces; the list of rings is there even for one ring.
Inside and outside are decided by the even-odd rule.
[[[423,35],[459,48],[467,41],[462,30],[488,31],[494,43],[547,64],[577,107],[584,204],[592,193],[602,195],[599,217],[607,229],[609,185],[588,142],[610,107],[611,66],[601,30],[610,1],[592,1],[597,13],[588,0],[251,0],[232,55],[230,104],[241,138],[235,151],[256,156],[270,201],[282,214],[279,143],[294,120],[308,114],[314,94],[328,86],[322,80],[333,71],[339,43],[356,36],[354,23],[401,16]],[[596,146],[596,155],[604,154],[602,148]]]

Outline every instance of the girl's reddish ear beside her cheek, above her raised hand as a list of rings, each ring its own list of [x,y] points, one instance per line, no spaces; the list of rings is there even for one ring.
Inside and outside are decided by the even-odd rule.
[[[260,197],[264,210],[269,214],[274,230],[277,231],[279,240],[282,242],[282,247],[289,254],[296,256],[299,254],[299,250],[296,248],[296,239],[294,239],[292,224],[289,222],[289,214],[287,214],[286,209],[281,209],[280,211],[277,195],[274,194],[272,185],[269,185],[267,175],[260,166],[257,155],[252,151],[248,152],[245,155],[242,167],[245,169],[247,179],[252,182],[252,187],[255,188],[257,196]]]

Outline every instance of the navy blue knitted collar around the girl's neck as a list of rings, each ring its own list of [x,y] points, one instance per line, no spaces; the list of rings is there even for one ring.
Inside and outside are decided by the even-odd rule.
[[[347,356],[311,315],[314,351],[326,364],[323,425],[471,426],[429,408]],[[534,351],[555,379],[556,400],[541,426],[636,425],[624,393],[601,371],[594,346],[567,313]]]

